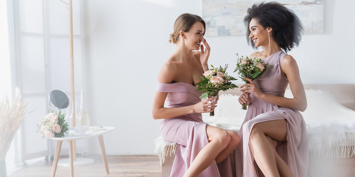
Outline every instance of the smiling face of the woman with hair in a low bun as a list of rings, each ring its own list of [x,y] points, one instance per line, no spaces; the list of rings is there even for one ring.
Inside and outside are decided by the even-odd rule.
[[[185,32],[186,38],[186,51],[189,50],[199,50],[201,42],[204,39],[204,26],[201,22],[195,22],[188,32]]]

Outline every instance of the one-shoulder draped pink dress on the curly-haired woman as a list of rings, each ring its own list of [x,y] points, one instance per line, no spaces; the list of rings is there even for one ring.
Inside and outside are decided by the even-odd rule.
[[[281,61],[286,54],[277,51],[263,61],[271,64],[262,74],[260,79],[253,82],[264,93],[284,97],[288,80],[282,72]],[[283,108],[263,99],[258,99],[253,93],[250,95],[252,103],[249,104],[244,122],[239,131],[240,145],[236,149],[237,176],[262,177],[261,170],[257,167],[251,149],[249,147],[249,136],[253,125],[269,121],[285,119],[287,142],[276,147],[277,153],[288,164],[296,177],[306,177],[308,170],[308,138],[306,124],[297,110]],[[240,153],[237,153],[240,150]],[[242,164],[242,165],[241,165]]]

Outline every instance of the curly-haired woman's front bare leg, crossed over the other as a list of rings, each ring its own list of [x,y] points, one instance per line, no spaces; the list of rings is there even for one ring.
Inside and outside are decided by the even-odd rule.
[[[266,177],[279,177],[279,171],[272,147],[268,138],[277,141],[286,140],[286,120],[270,120],[257,123],[250,133],[250,143],[253,148],[253,155],[260,170]]]

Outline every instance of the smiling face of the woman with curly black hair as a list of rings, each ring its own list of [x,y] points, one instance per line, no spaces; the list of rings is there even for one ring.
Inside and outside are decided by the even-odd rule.
[[[253,18],[249,23],[250,35],[249,39],[255,44],[255,47],[268,45],[268,28],[264,28]],[[270,34],[271,35],[271,34]]]

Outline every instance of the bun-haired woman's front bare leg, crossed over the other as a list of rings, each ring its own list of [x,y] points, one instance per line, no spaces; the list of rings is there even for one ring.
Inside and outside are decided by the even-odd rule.
[[[184,177],[195,177],[200,174],[211,165],[217,155],[222,152],[230,142],[230,135],[225,130],[207,125],[206,132],[209,143],[197,154]]]

